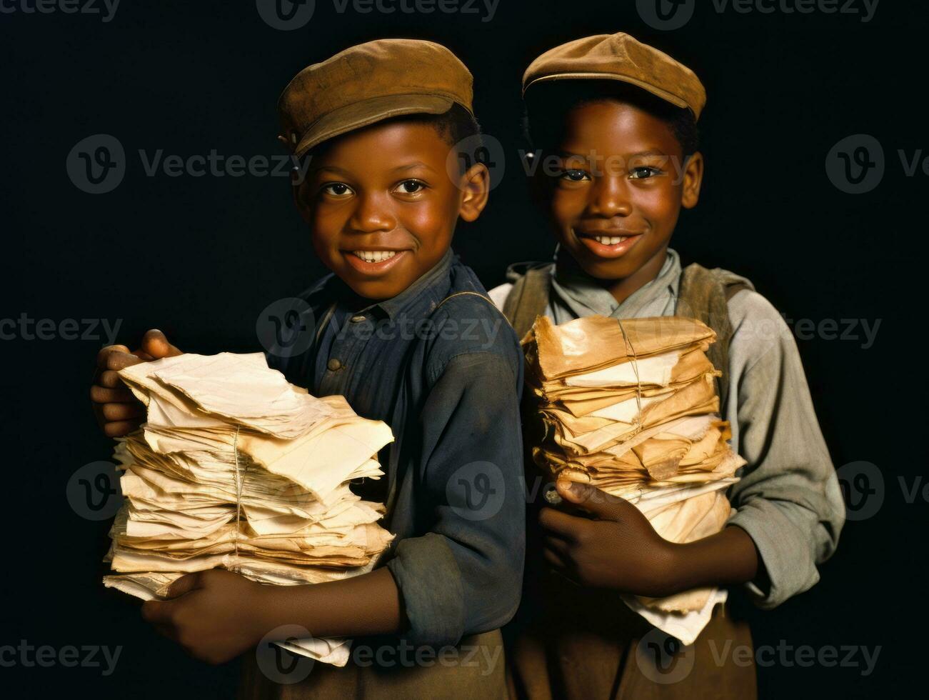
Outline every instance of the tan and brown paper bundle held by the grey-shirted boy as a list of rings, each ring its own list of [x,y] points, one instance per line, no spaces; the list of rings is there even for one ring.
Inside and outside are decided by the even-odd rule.
[[[719,532],[726,488],[745,462],[726,442],[705,351],[713,330],[695,319],[588,316],[536,319],[523,340],[541,436],[533,460],[559,479],[626,498],[672,542]],[[639,598],[664,613],[705,608],[712,588]]]

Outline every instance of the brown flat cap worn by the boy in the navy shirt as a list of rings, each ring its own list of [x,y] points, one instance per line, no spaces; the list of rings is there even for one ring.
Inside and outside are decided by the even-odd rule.
[[[297,73],[278,100],[295,155],[326,139],[400,114],[444,114],[453,102],[471,112],[473,78],[445,46],[381,39],[352,46]]]

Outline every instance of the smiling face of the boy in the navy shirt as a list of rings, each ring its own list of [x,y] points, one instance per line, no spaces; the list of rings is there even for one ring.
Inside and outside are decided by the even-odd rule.
[[[427,123],[390,121],[334,139],[294,199],[322,262],[370,299],[396,297],[433,268],[458,218],[487,203],[487,168],[446,170],[450,144]]]

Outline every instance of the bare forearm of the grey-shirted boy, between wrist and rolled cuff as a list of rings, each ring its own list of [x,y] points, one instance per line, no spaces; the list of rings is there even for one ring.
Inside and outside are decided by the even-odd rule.
[[[667,595],[705,586],[738,586],[754,580],[759,568],[752,537],[729,526],[715,535],[672,546]]]

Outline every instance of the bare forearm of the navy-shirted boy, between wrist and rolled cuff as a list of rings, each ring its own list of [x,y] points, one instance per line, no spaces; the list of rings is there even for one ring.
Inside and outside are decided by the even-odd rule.
[[[306,627],[314,637],[391,634],[404,625],[399,589],[386,568],[311,586],[262,586],[258,628]]]

